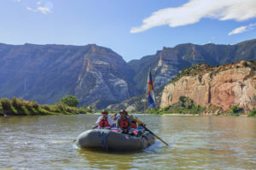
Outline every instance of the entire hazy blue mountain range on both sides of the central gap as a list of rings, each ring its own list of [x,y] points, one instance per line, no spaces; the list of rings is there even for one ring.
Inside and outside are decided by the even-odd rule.
[[[95,44],[0,43],[0,98],[15,96],[39,104],[55,104],[65,95],[72,94],[79,98],[81,105],[93,104],[102,108],[145,94],[149,68],[154,89],[159,89],[185,67],[200,62],[220,65],[241,59],[256,60],[255,39],[235,45],[186,43],[163,48],[128,64],[111,49]],[[128,103],[131,105],[132,101],[138,100],[132,98]]]

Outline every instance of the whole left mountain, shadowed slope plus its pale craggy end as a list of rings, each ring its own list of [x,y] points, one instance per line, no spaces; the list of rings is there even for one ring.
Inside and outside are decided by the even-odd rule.
[[[94,44],[0,44],[0,98],[55,104],[67,94],[81,105],[119,102],[136,94],[134,72],[121,56]]]

